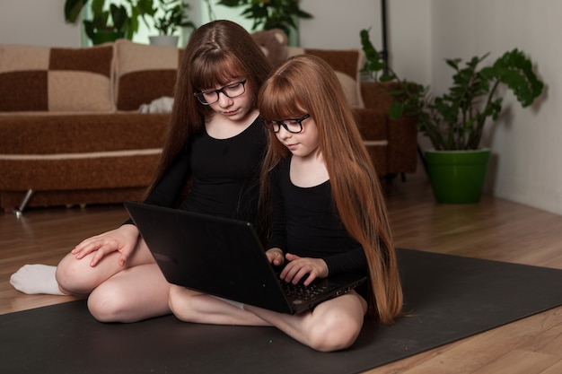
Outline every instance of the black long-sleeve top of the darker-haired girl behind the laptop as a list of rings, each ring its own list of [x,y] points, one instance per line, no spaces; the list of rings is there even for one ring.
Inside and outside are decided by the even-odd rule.
[[[145,203],[172,207],[192,177],[180,209],[258,225],[259,166],[266,144],[260,117],[228,139],[215,139],[202,131],[190,138]]]

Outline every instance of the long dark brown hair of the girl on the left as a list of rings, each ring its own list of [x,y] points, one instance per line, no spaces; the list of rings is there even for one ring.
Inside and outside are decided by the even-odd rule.
[[[191,34],[178,69],[162,158],[145,196],[152,192],[189,136],[202,131],[206,117],[213,113],[209,106],[198,102],[194,92],[232,83],[234,77],[240,77],[247,80],[246,91],[250,91],[257,108],[259,88],[270,70],[271,65],[259,45],[237,23],[209,22]]]

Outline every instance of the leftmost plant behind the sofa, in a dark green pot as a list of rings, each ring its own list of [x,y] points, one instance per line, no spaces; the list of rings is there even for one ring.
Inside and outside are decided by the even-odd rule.
[[[83,27],[94,45],[122,38],[133,39],[139,18],[144,18],[153,9],[153,0],[127,0],[127,6],[110,3],[109,9],[105,0],[66,0],[66,22],[76,22],[88,3],[91,3],[92,18],[83,20]]]

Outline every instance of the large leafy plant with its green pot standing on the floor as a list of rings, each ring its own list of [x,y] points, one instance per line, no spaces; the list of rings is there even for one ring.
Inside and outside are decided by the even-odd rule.
[[[360,36],[367,58],[364,70],[379,82],[399,83],[391,92],[395,101],[390,117],[417,117],[417,128],[434,147],[425,152],[425,162],[436,201],[479,202],[490,158],[490,150],[482,149],[480,141],[487,119],[496,120],[502,111],[497,88],[505,86],[522,108],[529,107],[544,85],[532,71],[531,60],[517,48],[484,67],[480,64],[489,54],[472,57],[464,65],[460,58],[447,59],[454,70],[452,85],[443,95],[432,96],[429,87],[400,79],[384,64],[368,30],[361,30]]]

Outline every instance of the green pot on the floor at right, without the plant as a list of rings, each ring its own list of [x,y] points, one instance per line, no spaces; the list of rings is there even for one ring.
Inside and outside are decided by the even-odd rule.
[[[437,203],[473,204],[486,183],[490,150],[426,151],[427,173]]]

